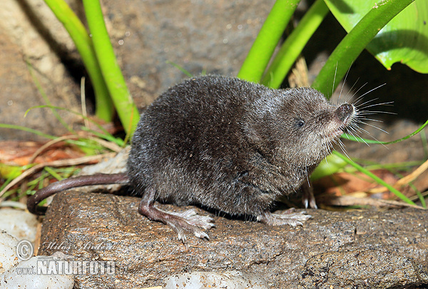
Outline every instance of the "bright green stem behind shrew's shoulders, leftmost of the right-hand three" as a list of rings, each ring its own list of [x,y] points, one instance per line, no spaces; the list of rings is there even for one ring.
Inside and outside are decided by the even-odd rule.
[[[300,0],[277,0],[248,52],[238,78],[259,82]]]

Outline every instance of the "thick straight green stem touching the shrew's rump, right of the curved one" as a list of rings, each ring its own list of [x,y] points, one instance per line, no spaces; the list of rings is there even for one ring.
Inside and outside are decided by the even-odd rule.
[[[116,55],[104,23],[101,4],[98,0],[83,0],[83,7],[92,34],[96,59],[98,59],[108,91],[118,111],[123,128],[127,133],[132,133],[137,126],[139,114],[126,86],[121,68],[116,61]]]

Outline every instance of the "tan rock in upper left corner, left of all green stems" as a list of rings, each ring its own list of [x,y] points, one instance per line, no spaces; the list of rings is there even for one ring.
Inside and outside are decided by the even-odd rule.
[[[26,118],[24,113],[46,104],[37,83],[52,105],[80,110],[79,85],[71,77],[80,61],[71,39],[43,0],[4,0],[0,19],[0,123],[53,135],[64,133],[66,129],[48,108],[34,109]],[[70,113],[58,113],[66,123],[77,121]],[[37,139],[30,133],[0,128],[0,139],[11,138]]]

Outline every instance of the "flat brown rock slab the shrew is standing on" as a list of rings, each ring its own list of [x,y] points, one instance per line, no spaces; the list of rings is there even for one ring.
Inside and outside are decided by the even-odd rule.
[[[44,219],[39,254],[61,250],[77,260],[115,261],[115,274],[76,275],[78,288],[144,288],[162,285],[163,278],[171,274],[230,270],[257,274],[271,288],[311,288],[305,283],[310,275],[307,272],[312,268],[310,272],[315,274],[320,269],[315,270],[313,259],[308,260],[317,255],[322,262],[331,256],[344,264],[352,261],[355,276],[367,275],[367,270],[376,274],[379,266],[398,272],[415,264],[419,275],[409,273],[413,279],[406,279],[407,285],[427,283],[426,277],[422,278],[428,273],[427,211],[309,210],[313,218],[297,228],[215,216],[216,227],[208,232],[209,241],[189,236],[183,244],[168,226],[140,216],[139,201],[110,194],[58,193]],[[159,206],[170,211],[184,209]],[[355,251],[365,255],[365,260],[373,258],[376,268],[362,262],[358,265]],[[330,257],[320,257],[322,253]],[[394,280],[393,284],[400,282]],[[370,283],[359,288],[370,288]]]

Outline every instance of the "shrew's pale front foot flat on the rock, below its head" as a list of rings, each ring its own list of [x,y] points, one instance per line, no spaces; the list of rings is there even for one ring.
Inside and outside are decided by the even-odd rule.
[[[291,208],[287,211],[284,211],[281,214],[272,214],[269,211],[266,211],[259,216],[257,220],[261,223],[267,225],[303,225],[303,222],[312,218],[310,215],[306,215],[305,211],[295,212],[294,208]]]

